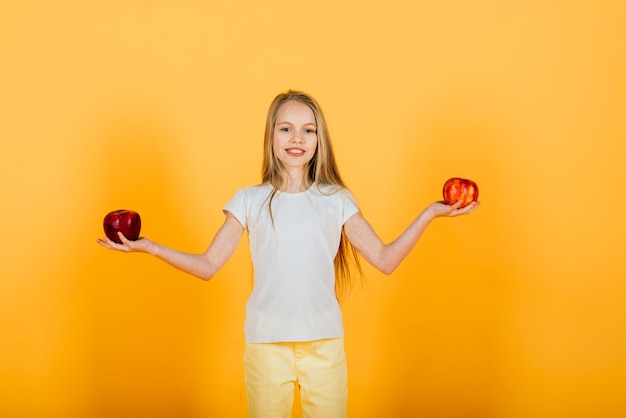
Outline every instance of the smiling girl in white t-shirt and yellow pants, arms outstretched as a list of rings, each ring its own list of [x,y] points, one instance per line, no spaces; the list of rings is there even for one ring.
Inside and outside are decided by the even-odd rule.
[[[298,91],[279,94],[265,126],[263,181],[239,190],[224,207],[224,224],[203,254],[148,238],[102,246],[152,254],[204,280],[211,279],[247,231],[254,286],[246,304],[244,355],[250,417],[291,416],[294,386],[304,417],[347,415],[347,369],[338,294],[361,273],[357,253],[392,273],[428,224],[469,214],[474,202],[430,204],[385,244],[361,215],[335,163],[322,110]]]

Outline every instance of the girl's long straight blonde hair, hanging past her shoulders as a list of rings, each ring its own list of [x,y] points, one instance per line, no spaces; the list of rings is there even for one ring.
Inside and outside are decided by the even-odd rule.
[[[338,189],[346,187],[339,175],[328,126],[320,105],[313,97],[301,91],[288,90],[284,93],[280,93],[274,98],[267,111],[265,137],[263,140],[263,184],[271,184],[274,187],[268,203],[272,220],[272,200],[278,188],[286,184],[287,179],[285,167],[274,154],[274,128],[278,110],[283,104],[289,101],[299,102],[308,106],[313,111],[317,125],[317,149],[307,169],[309,182],[315,185],[318,190],[320,184],[337,186]],[[334,264],[335,293],[337,294],[337,298],[341,299],[354,284],[352,267],[356,268],[356,271],[359,273],[359,278],[361,278],[361,280],[363,279],[363,270],[359,262],[358,253],[346,237],[343,228],[341,229],[341,239],[339,241],[339,249],[335,256]]]

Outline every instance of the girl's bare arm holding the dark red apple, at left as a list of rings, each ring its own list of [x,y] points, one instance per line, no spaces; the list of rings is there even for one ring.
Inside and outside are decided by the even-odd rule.
[[[130,241],[121,233],[119,236],[122,244],[117,244],[106,237],[98,239],[97,242],[111,250],[151,254],[179,270],[203,280],[210,280],[235,252],[243,231],[243,226],[239,221],[232,214],[226,212],[224,224],[217,231],[211,245],[203,254],[178,251],[148,238]]]

